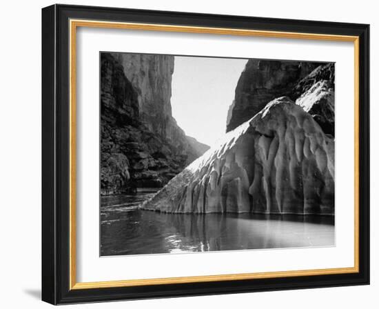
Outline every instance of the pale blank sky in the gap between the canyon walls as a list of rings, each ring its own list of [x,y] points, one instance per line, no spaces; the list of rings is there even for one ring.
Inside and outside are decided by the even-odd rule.
[[[209,146],[225,134],[227,110],[246,62],[175,56],[172,116],[185,134]]]

